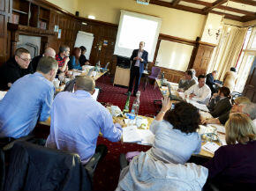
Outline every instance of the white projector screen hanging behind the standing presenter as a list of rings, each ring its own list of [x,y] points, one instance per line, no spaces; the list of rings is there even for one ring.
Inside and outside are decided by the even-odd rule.
[[[139,48],[139,42],[145,41],[144,49],[152,62],[161,23],[162,18],[121,10],[114,55],[130,57],[132,50]]]

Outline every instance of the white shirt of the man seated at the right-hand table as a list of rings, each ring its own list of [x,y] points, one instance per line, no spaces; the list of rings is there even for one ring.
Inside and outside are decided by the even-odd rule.
[[[196,95],[192,98],[192,100],[198,101],[200,103],[206,104],[207,101],[211,98],[211,89],[207,84],[204,84],[202,87],[200,87],[199,84],[194,84],[184,92],[184,95],[189,96],[192,93]]]

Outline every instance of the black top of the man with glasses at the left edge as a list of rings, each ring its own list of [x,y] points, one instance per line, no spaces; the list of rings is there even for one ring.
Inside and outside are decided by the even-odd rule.
[[[13,84],[20,77],[24,77],[26,74],[32,74],[33,67],[31,62],[27,69],[21,69],[19,64],[15,61],[14,57],[11,57],[0,68],[0,90],[8,90],[8,83]]]

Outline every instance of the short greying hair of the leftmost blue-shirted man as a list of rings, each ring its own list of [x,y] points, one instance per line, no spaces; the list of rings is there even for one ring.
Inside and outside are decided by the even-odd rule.
[[[49,56],[43,56],[38,62],[36,71],[41,71],[41,73],[47,74],[50,70],[57,69],[57,67],[58,64],[56,62],[56,59]]]

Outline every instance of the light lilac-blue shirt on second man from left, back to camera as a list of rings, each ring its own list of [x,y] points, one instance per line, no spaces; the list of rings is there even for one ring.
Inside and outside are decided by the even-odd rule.
[[[50,134],[46,146],[78,153],[83,164],[94,155],[100,131],[111,142],[122,136],[109,111],[89,92],[59,92],[51,109]]]

